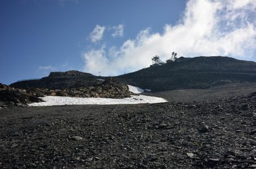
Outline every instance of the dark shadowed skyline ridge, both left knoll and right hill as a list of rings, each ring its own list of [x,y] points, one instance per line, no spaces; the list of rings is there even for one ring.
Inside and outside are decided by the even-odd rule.
[[[98,83],[97,76],[81,71],[51,72],[48,77],[10,84],[16,88],[81,87]],[[105,79],[106,77],[100,77]],[[180,88],[209,88],[233,82],[255,82],[256,63],[232,57],[212,56],[177,58],[160,66],[150,66],[114,77],[126,84],[148,88],[153,92]]]

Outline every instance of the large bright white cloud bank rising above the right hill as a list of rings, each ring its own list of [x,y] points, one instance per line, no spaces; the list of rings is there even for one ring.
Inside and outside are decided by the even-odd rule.
[[[85,52],[84,71],[129,73],[149,66],[155,54],[172,51],[187,57],[221,55],[250,60],[256,52],[255,9],[255,0],[190,0],[179,22],[166,24],[163,32],[147,28],[121,47],[102,45]]]

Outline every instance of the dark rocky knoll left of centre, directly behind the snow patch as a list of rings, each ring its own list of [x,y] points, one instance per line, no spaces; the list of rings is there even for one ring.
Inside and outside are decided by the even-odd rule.
[[[12,87],[23,88],[29,95],[37,97],[70,96],[76,98],[128,98],[129,87],[114,78],[98,81],[94,75],[80,71],[53,72],[48,77],[16,82]],[[133,94],[134,95],[134,94]]]

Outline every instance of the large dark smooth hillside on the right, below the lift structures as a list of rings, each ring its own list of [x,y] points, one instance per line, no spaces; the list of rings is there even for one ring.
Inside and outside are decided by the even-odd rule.
[[[233,82],[255,82],[256,63],[221,56],[184,58],[184,61],[178,59],[116,78],[152,91],[209,88]]]

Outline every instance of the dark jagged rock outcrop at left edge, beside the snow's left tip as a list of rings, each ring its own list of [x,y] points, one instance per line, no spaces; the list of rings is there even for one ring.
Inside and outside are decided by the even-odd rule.
[[[11,88],[0,83],[0,107],[24,106],[33,102],[43,102],[43,100],[35,94],[27,93],[26,90]]]

